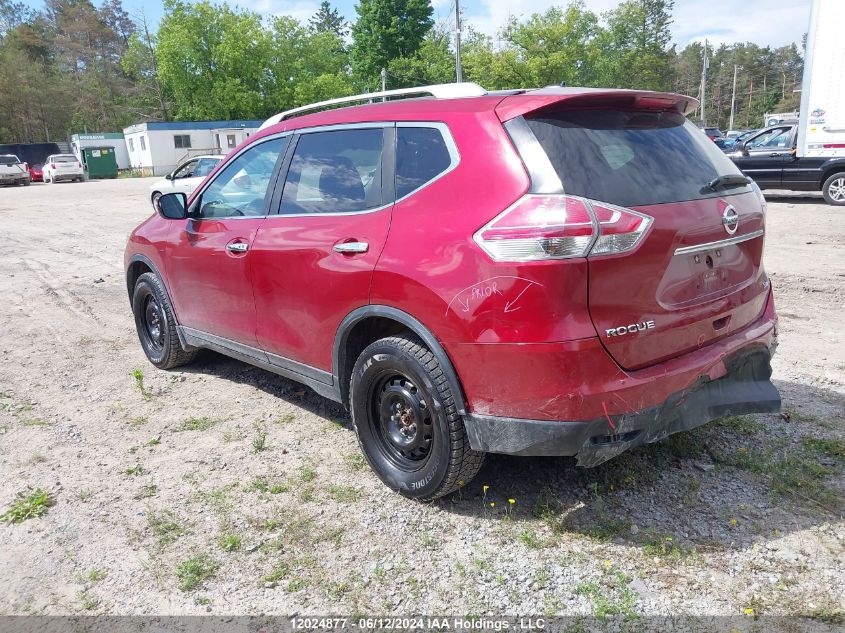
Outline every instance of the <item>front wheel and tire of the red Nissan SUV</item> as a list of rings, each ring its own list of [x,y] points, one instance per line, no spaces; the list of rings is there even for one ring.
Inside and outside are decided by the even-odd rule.
[[[132,313],[141,347],[153,365],[159,369],[173,369],[194,360],[197,350],[182,349],[173,306],[155,274],[144,273],[135,282]]]

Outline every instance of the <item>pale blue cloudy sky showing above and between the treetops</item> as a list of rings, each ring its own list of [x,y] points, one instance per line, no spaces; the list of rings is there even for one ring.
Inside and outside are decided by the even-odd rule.
[[[25,0],[40,8],[43,2]],[[99,4],[99,0],[93,0]],[[586,0],[587,8],[601,13],[612,9],[619,0]],[[265,15],[292,15],[305,20],[314,13],[320,0],[229,0],[229,4],[249,8]],[[347,19],[355,16],[356,0],[333,0]],[[495,35],[511,15],[525,16],[543,11],[553,5],[565,5],[564,0],[461,0],[464,25]],[[435,17],[454,25],[451,17],[454,0],[432,0]],[[153,24],[162,14],[160,0],[123,0],[133,16],[144,12]],[[780,46],[801,42],[807,30],[810,0],[675,0],[672,32],[677,44],[684,46],[695,40],[708,38],[711,42],[733,43],[751,41],[757,44]]]

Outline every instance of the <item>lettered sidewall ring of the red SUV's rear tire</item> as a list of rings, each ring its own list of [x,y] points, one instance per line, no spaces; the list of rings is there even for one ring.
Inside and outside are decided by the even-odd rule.
[[[405,471],[393,464],[383,453],[371,421],[369,393],[375,381],[385,370],[404,374],[425,392],[425,401],[431,407],[432,447],[423,465],[414,471]],[[443,406],[437,387],[427,369],[403,350],[378,341],[361,355],[352,372],[350,387],[352,423],[358,443],[370,467],[390,488],[410,498],[429,498],[442,486],[449,470],[451,433],[449,416]]]

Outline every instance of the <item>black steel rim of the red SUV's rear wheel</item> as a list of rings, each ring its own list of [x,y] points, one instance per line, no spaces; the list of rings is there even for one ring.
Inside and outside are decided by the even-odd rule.
[[[390,372],[373,383],[370,426],[381,453],[402,470],[419,470],[431,454],[433,410],[413,380]]]

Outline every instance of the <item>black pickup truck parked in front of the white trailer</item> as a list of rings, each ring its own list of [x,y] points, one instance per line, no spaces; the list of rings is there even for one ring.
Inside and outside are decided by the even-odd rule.
[[[734,144],[730,159],[761,189],[821,191],[845,206],[845,156],[798,156],[798,124],[782,123]]]

